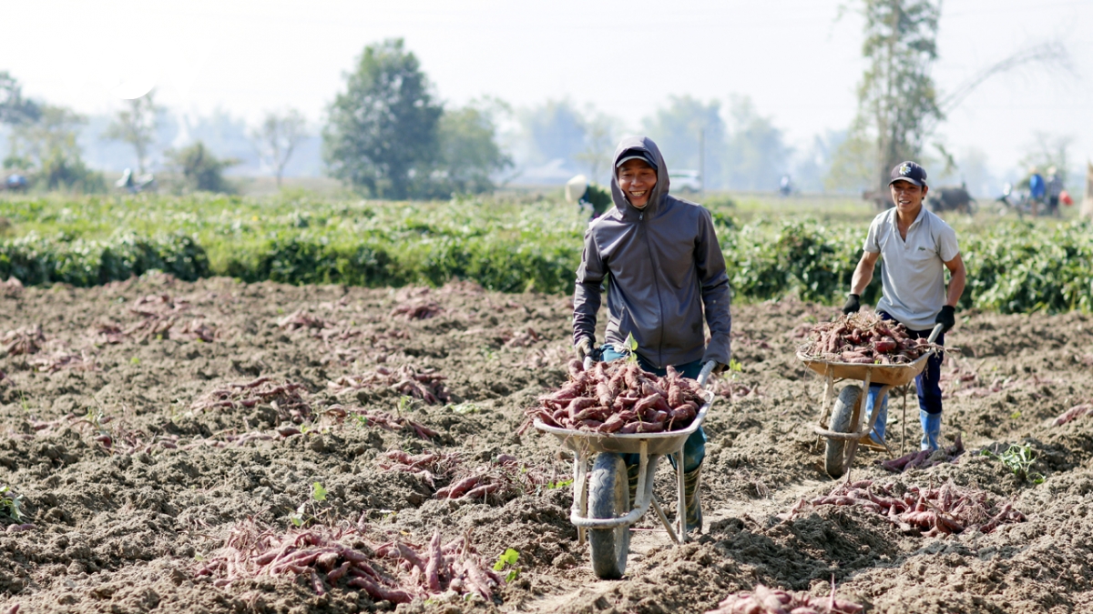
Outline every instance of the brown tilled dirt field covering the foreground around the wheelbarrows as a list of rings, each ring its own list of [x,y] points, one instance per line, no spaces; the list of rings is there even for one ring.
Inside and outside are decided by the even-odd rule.
[[[572,461],[553,438],[517,434],[524,409],[565,379],[566,297],[152,276],[8,290],[0,305],[0,334],[19,331],[0,358],[0,486],[23,513],[0,509],[4,612],[395,609],[345,579],[210,571],[233,529],[279,533],[294,519],[352,528],[362,552],[439,530],[468,535],[487,567],[519,553],[490,601],[448,591],[400,612],[703,612],[759,582],[827,595],[832,578],[867,612],[1093,612],[1093,416],[1049,424],[1093,397],[1086,316],[965,314],[949,339],[963,354],[943,369],[943,433],[962,432],[967,451],[902,474],[859,453],[854,480],[900,493],[952,481],[1026,517],[927,536],[808,503],[836,483],[811,434],[821,382],[794,357],[795,331],[833,310],[736,307],[742,371],[706,423],[703,534],[673,546],[649,515],[626,577],[601,581],[568,522]],[[895,400],[896,445],[901,415]],[[914,447],[914,399],[907,418]],[[1031,446],[1042,483],[978,453],[1010,444]],[[438,460],[398,471],[391,450]],[[659,498],[673,501],[666,468]],[[436,498],[471,474],[496,489]]]

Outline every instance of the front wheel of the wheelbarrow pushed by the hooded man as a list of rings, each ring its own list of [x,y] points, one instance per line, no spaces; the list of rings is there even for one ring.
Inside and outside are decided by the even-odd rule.
[[[588,486],[588,516],[619,518],[628,512],[626,463],[619,454],[601,452],[592,463]],[[622,578],[626,571],[626,554],[630,551],[630,527],[589,529],[588,543],[592,548],[592,571],[604,580]]]

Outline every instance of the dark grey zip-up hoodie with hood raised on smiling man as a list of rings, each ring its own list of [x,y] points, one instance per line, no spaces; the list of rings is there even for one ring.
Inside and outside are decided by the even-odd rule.
[[[728,364],[729,279],[714,221],[701,205],[668,193],[668,166],[651,139],[624,138],[612,169],[634,152],[656,163],[657,185],[645,209],[637,209],[623,196],[618,177],[611,178],[614,209],[585,233],[573,298],[574,343],[595,339],[600,287],[607,280],[608,343],[622,347],[633,333],[637,353],[661,368],[700,358]]]

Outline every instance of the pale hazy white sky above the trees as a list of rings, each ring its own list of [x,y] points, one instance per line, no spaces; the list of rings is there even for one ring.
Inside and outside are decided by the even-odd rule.
[[[0,70],[83,113],[118,108],[122,81],[160,102],[249,120],[293,106],[319,120],[365,45],[403,37],[444,101],[569,97],[636,127],[669,94],[745,94],[806,149],[855,111],[861,20],[837,0],[0,0]],[[849,0],[845,2],[851,4]],[[942,93],[1023,46],[1059,40],[1073,71],[994,78],[941,130],[1012,167],[1036,131],[1093,157],[1093,0],[945,0]]]

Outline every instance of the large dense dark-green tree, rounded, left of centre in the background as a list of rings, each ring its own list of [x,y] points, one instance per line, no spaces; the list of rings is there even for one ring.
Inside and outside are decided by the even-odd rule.
[[[412,196],[437,160],[442,113],[401,38],[365,47],[330,105],[322,134],[330,174],[377,197]]]

